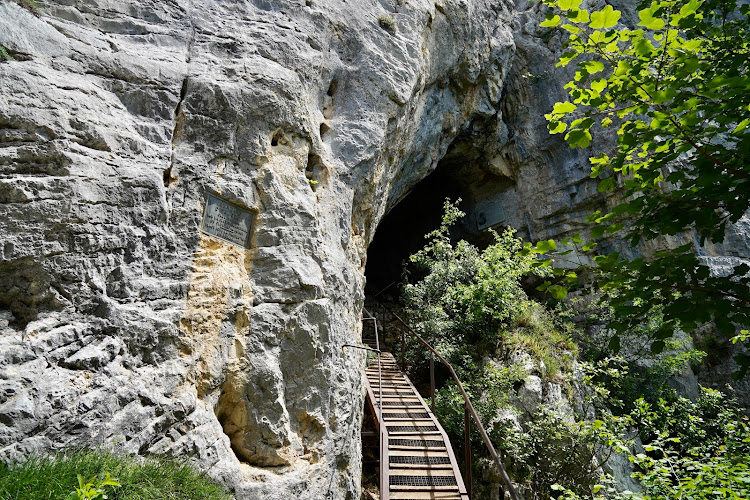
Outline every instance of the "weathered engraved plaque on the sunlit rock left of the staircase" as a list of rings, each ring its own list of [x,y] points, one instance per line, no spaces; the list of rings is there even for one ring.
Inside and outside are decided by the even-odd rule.
[[[229,243],[250,248],[254,217],[252,211],[209,194],[203,211],[201,231]]]

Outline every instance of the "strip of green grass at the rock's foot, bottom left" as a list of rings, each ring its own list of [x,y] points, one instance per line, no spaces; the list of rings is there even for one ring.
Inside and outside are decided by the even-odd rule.
[[[226,489],[184,463],[139,459],[107,451],[83,450],[0,463],[0,500],[60,500],[87,481],[109,473],[122,486],[107,488],[110,500],[231,500]]]

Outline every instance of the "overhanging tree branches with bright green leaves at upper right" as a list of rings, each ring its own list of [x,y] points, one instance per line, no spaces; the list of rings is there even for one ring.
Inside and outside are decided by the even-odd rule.
[[[609,5],[589,11],[581,0],[545,2],[553,9],[542,26],[568,34],[558,66],[577,65],[565,86],[569,100],[546,115],[550,132],[581,148],[599,129],[617,134],[611,155],[590,158],[599,191],[617,200],[587,219],[591,237],[616,234],[632,246],[662,235],[685,242],[649,259],[596,255],[575,282],[593,281],[590,288],[613,307],[610,326],[617,332],[659,307],[664,321],[655,351],[676,328],[713,322],[727,336],[746,328],[750,266],[737,259],[719,274],[696,250],[721,243],[727,226],[750,207],[750,7],[736,0],[655,0],[641,5],[637,26],[625,27]],[[596,252],[596,243],[580,236],[562,243]],[[550,250],[549,242],[527,247]],[[750,367],[750,357],[735,359],[742,373]]]

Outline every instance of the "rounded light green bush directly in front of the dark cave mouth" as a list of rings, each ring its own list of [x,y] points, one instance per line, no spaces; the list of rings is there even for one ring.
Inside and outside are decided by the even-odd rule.
[[[446,200],[441,226],[427,234],[425,247],[410,257],[413,274],[423,277],[404,285],[403,302],[416,330],[446,353],[486,352],[488,345],[512,341],[514,321],[538,323],[531,320],[539,306],[526,296],[521,278],[550,271],[538,266],[535,256],[521,252],[523,243],[511,229],[494,233],[495,243],[481,251],[463,240],[451,242],[450,226],[464,216],[457,204]]]

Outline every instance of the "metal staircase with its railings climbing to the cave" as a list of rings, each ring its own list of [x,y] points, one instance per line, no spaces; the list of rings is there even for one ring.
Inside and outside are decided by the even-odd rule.
[[[431,407],[417,392],[396,359],[384,352],[378,335],[378,321],[366,309],[363,321],[372,321],[374,337],[363,339],[364,348],[377,354],[366,368],[367,404],[375,416],[379,442],[381,500],[469,500],[471,498],[471,443],[469,429],[473,420],[490,456],[494,459],[512,500],[518,500],[515,488],[489,440],[484,426],[469,401],[456,372],[435,349],[412,330],[398,315],[401,336],[401,368],[404,368],[405,332],[416,337],[430,353]],[[385,320],[385,311],[383,314]],[[465,477],[445,430],[433,411],[435,407],[434,360],[437,358],[451,373],[464,398]],[[467,487],[468,486],[468,487]]]

